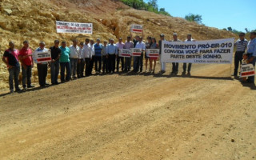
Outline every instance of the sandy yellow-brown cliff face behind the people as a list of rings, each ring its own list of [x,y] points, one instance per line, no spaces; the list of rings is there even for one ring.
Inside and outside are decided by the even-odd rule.
[[[171,39],[177,32],[184,40],[187,33],[195,39],[230,38],[225,30],[201,26],[194,22],[186,22],[182,18],[172,18],[143,10],[134,10],[116,0],[0,0],[0,56],[8,47],[10,40],[20,49],[22,42],[30,41],[31,48],[38,47],[39,41],[46,42],[46,47],[53,45],[54,39],[66,40],[78,38],[126,38],[130,34],[130,26],[134,23],[144,26],[144,36],[158,38],[160,33]],[[55,21],[92,22],[94,34],[57,34]],[[6,87],[8,74],[6,66],[0,63],[0,88]],[[34,74],[34,80],[36,80]]]

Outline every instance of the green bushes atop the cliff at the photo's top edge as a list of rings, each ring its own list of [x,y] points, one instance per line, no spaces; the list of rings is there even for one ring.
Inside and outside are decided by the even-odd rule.
[[[164,14],[170,16],[168,12],[164,8],[160,8],[158,10],[158,1],[150,0],[149,2],[144,2],[143,0],[121,0],[127,6],[133,7],[136,10],[147,10],[150,12],[154,12],[156,14]]]

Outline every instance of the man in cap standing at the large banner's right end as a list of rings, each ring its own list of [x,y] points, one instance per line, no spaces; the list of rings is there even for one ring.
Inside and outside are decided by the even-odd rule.
[[[245,38],[245,33],[239,34],[239,39],[234,43],[234,46],[237,47],[237,50],[234,54],[234,74],[232,76],[238,76],[238,66],[242,64],[242,54],[245,53],[248,41]]]

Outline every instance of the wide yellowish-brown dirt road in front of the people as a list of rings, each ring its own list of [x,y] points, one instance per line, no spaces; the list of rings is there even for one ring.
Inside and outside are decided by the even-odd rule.
[[[254,86],[228,78],[229,65],[169,73],[2,94],[0,159],[256,158]]]

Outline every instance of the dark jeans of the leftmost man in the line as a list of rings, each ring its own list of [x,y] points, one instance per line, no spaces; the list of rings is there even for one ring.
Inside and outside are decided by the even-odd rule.
[[[20,72],[20,66],[14,66],[9,71],[9,86],[10,90],[14,90],[14,83],[15,83],[15,89],[18,90],[18,74]]]

